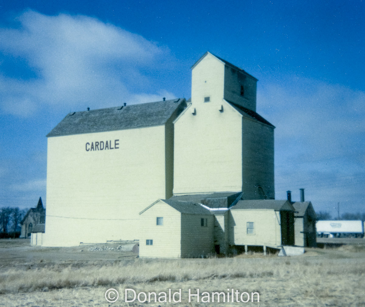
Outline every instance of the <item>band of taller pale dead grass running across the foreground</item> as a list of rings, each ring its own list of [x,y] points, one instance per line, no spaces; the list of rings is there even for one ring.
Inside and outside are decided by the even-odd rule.
[[[154,284],[161,281],[181,283],[202,280],[230,279],[307,279],[323,276],[364,275],[365,262],[341,263],[311,258],[220,258],[184,260],[133,259],[113,264],[50,265],[47,268],[11,268],[0,274],[0,293],[45,291],[74,287],[112,287],[119,284]]]

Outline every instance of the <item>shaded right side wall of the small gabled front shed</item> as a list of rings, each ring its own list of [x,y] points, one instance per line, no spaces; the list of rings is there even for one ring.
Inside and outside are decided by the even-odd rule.
[[[201,226],[201,219],[207,226]],[[214,253],[214,216],[181,214],[181,257],[201,257]]]

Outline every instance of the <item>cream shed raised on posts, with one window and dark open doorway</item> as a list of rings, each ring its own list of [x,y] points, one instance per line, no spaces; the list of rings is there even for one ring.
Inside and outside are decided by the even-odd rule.
[[[230,208],[230,245],[294,245],[294,211],[287,200],[240,200]]]

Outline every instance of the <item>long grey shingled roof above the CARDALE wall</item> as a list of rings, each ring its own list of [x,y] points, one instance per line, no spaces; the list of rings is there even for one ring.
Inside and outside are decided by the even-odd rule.
[[[125,107],[71,112],[47,134],[47,137],[161,126],[175,111],[177,115],[180,114],[185,106],[186,100],[178,98]]]

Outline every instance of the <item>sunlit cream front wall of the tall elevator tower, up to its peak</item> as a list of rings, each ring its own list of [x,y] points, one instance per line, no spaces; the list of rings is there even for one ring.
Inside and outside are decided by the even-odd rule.
[[[241,115],[223,92],[224,64],[208,54],[192,70],[192,104],[175,121],[174,195],[241,191]]]

